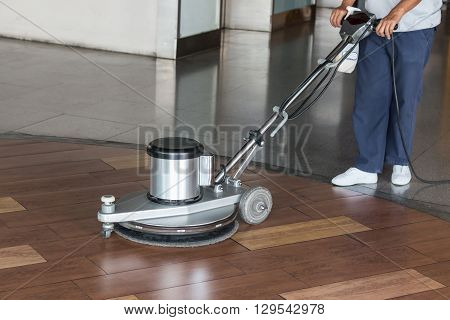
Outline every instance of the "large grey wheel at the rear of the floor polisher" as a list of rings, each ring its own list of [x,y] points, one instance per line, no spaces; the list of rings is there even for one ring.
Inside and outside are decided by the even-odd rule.
[[[248,189],[239,202],[240,216],[248,224],[260,224],[269,216],[272,204],[272,195],[267,188]]]

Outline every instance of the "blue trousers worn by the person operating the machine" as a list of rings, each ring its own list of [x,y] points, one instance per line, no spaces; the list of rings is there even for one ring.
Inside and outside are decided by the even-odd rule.
[[[408,153],[434,33],[435,28],[395,34],[400,123]],[[391,57],[391,41],[375,33],[360,43],[353,129],[359,150],[355,166],[365,172],[380,173],[385,163],[408,164],[397,125]]]

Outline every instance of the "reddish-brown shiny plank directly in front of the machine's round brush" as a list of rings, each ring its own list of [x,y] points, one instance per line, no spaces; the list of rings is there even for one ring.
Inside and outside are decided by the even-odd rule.
[[[161,248],[141,246],[136,249],[107,251],[88,258],[107,273],[164,266],[193,260],[208,259],[246,252],[247,249],[232,240],[199,248]]]

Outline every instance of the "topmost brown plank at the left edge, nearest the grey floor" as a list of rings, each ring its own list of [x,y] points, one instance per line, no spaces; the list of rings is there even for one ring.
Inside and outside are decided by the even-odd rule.
[[[82,147],[78,145],[59,142],[9,145],[9,146],[0,146],[0,157],[7,158],[30,154],[52,153],[52,152],[71,151],[80,149],[82,149]]]

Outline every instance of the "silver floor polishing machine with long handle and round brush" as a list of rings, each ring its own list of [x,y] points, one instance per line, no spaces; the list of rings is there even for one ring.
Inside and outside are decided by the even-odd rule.
[[[217,171],[214,155],[193,139],[152,141],[147,147],[148,192],[131,193],[117,201],[112,195],[103,196],[98,212],[103,237],[109,238],[114,231],[139,243],[190,247],[231,237],[238,218],[252,225],[262,223],[272,209],[271,193],[264,187],[243,185],[240,176],[264,147],[266,134],[274,137],[288,120],[306,112],[358,43],[375,30],[379,20],[373,14],[350,9],[340,30],[342,41],[281,106],[273,108],[273,115],[258,130],[249,132],[242,148]]]

